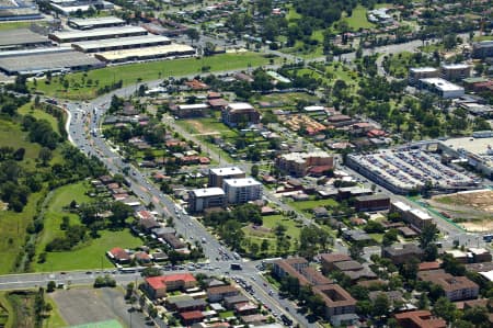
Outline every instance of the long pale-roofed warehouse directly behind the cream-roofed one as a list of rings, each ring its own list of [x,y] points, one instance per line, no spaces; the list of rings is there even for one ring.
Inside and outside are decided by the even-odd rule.
[[[76,50],[82,53],[103,53],[112,50],[144,48],[149,46],[169,45],[171,41],[161,35],[141,35],[131,37],[115,37],[98,41],[72,43]]]

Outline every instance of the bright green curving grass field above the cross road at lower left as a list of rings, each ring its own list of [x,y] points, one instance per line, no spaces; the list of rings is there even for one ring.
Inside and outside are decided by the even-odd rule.
[[[45,213],[45,228],[36,245],[36,253],[44,251],[46,244],[60,236],[61,218],[68,216],[70,224],[78,224],[78,216],[64,212],[62,207],[72,200],[78,203],[90,201],[84,194],[87,182],[79,182],[59,188],[55,191]],[[134,237],[128,229],[122,231],[101,231],[101,237],[92,239],[71,251],[48,252],[46,262],[33,263],[35,271],[78,270],[94,268],[112,268],[113,264],[105,257],[105,252],[113,247],[133,248],[141,245],[139,238]]]

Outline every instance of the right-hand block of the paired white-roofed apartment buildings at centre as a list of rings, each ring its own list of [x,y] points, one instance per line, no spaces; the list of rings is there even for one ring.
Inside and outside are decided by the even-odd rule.
[[[262,183],[252,178],[226,179],[222,189],[228,204],[244,204],[262,199]]]

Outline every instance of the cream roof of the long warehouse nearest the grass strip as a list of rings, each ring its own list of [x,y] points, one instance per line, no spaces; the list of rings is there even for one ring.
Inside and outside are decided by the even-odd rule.
[[[146,58],[152,56],[167,56],[172,54],[180,53],[190,53],[195,52],[195,49],[191,46],[183,44],[172,43],[170,45],[164,46],[156,46],[156,47],[146,47],[146,48],[137,48],[137,49],[125,49],[125,50],[115,50],[115,52],[103,52],[98,53],[98,57],[104,58],[105,60],[121,60],[125,58]]]

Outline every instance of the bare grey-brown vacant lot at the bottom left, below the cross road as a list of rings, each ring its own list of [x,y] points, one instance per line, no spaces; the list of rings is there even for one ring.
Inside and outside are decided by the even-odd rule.
[[[118,289],[72,289],[50,294],[57,303],[61,317],[69,326],[115,319],[130,327],[130,305],[125,303]],[[142,315],[131,314],[131,327],[145,328]]]

